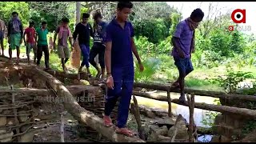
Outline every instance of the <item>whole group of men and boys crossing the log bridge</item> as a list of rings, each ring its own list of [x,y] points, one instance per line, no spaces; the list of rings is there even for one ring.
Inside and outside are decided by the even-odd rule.
[[[69,20],[67,18],[62,18],[62,23],[58,26],[56,34],[54,35],[54,46],[58,35],[58,56],[61,58],[63,70],[66,70],[65,63],[70,58],[70,50],[67,41],[73,46],[72,36],[74,42],[78,37],[78,43],[82,51],[83,59],[78,70],[79,72],[82,71],[83,66],[86,66],[87,73],[90,74],[89,62],[98,70],[97,76],[100,74],[104,75],[106,69],[106,86],[108,87],[108,90],[106,94],[103,121],[105,126],[113,125],[110,113],[114,109],[118,98],[120,98],[116,132],[127,136],[134,135],[132,131],[126,128],[130,99],[134,85],[133,54],[138,60],[139,70],[144,70],[142,61],[134,44],[134,27],[131,22],[127,21],[132,7],[132,2],[118,2],[115,18],[113,18],[110,23],[106,24],[106,22],[102,22],[101,14],[95,14],[93,27],[88,23],[90,14],[82,14],[82,22],[75,26],[73,35],[68,27]],[[185,102],[186,100],[184,78],[194,70],[190,59],[191,54],[195,50],[194,30],[198,27],[198,24],[202,21],[203,17],[204,13],[201,9],[194,10],[189,18],[178,23],[171,41],[174,46],[172,55],[179,71],[179,77],[172,86],[180,89],[180,102]],[[49,51],[46,38],[48,30],[46,29],[46,26],[46,22],[42,22],[42,26],[37,30],[34,30],[34,22],[30,22],[30,26],[24,32],[24,42],[26,43],[28,61],[30,62],[30,49],[33,48],[34,54],[36,55],[34,62],[36,62],[37,58],[37,65],[39,65],[43,51],[46,58],[46,68],[49,68]],[[18,19],[18,14],[14,12],[12,20],[8,23],[8,42],[10,43],[11,49],[17,49],[17,57],[19,56],[19,46],[22,43],[22,36],[22,23]],[[94,46],[92,46],[91,49],[90,37],[94,38]],[[37,50],[34,49],[35,42],[38,43]],[[72,49],[73,48],[71,48],[71,50]],[[94,62],[94,58],[97,54],[99,55],[101,69]]]

